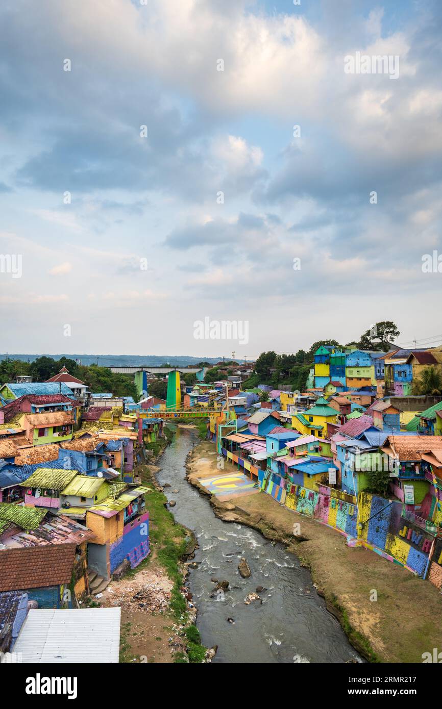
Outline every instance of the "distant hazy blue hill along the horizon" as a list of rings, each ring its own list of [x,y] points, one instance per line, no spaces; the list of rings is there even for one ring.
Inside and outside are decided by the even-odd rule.
[[[198,362],[210,362],[216,364],[221,362],[222,357],[188,357],[185,354],[172,356],[170,354],[11,354],[8,352],[9,359],[21,359],[23,362],[33,362],[38,357],[69,357],[70,359],[81,359],[82,364],[96,364],[98,357],[99,367],[161,367],[167,362],[171,367],[187,367],[187,364],[198,364]],[[6,354],[0,354],[0,359],[6,359]],[[242,359],[236,359],[238,364],[242,364]]]

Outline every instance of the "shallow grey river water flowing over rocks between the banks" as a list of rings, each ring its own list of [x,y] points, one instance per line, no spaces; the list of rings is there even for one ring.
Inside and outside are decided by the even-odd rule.
[[[184,479],[194,442],[199,442],[194,430],[177,428],[160,459],[157,479],[160,485],[170,483],[165,494],[177,503],[172,508],[175,519],[193,530],[199,542],[194,559],[198,569],[190,571],[189,588],[198,608],[201,642],[218,645],[214,662],[360,661],[297,557],[249,527],[217,518],[208,498]],[[252,571],[249,579],[238,572],[241,557]],[[221,599],[213,596],[216,584],[211,579],[229,582]],[[263,603],[245,605],[257,586],[266,589],[259,594]]]

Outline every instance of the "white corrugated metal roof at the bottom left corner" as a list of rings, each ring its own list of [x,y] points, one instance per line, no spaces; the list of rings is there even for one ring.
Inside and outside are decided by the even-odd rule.
[[[118,663],[121,608],[30,610],[13,652],[23,662]]]

